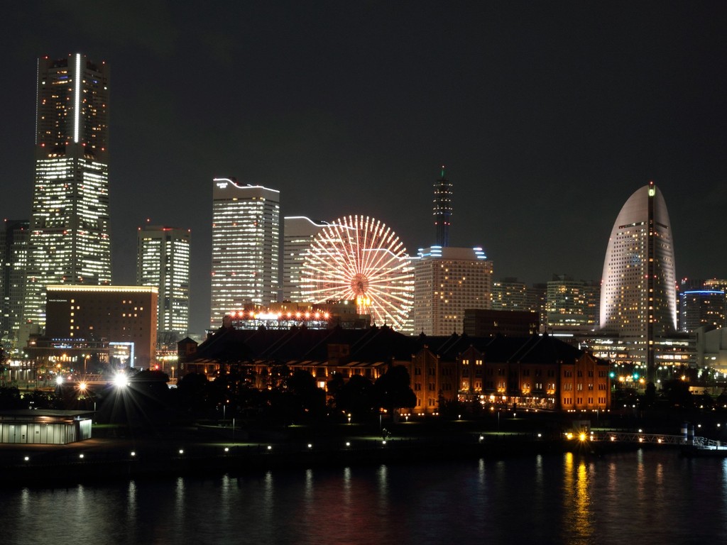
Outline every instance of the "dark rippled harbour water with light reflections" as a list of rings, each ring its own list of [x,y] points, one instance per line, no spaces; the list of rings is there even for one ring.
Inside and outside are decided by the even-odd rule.
[[[275,469],[0,491],[3,544],[689,544],[727,538],[727,461],[675,451]]]

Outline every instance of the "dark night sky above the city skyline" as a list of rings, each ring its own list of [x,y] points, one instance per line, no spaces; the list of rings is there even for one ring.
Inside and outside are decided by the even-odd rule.
[[[21,6],[22,4],[22,6]],[[723,1],[25,1],[6,8],[0,213],[30,216],[36,58],[111,67],[115,283],[136,230],[192,230],[209,320],[212,178],[281,191],[281,216],[364,214],[410,254],[454,185],[452,246],[495,278],[600,280],[653,179],[678,278],[727,277]]]

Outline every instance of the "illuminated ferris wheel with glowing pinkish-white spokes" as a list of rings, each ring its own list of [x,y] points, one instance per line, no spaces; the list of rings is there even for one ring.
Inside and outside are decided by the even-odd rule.
[[[354,299],[359,314],[377,326],[407,328],[414,296],[414,273],[398,236],[364,216],[337,219],[310,244],[301,270],[306,302]]]

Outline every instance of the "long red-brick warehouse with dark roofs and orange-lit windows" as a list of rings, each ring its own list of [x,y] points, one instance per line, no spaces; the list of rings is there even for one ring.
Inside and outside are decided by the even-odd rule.
[[[553,336],[406,336],[386,326],[255,331],[220,328],[199,344],[181,373],[209,378],[246,368],[267,388],[289,371],[310,372],[318,387],[334,374],[374,382],[390,366],[409,371],[414,413],[434,414],[439,402],[516,403],[523,408],[604,410],[611,403],[608,362]]]

